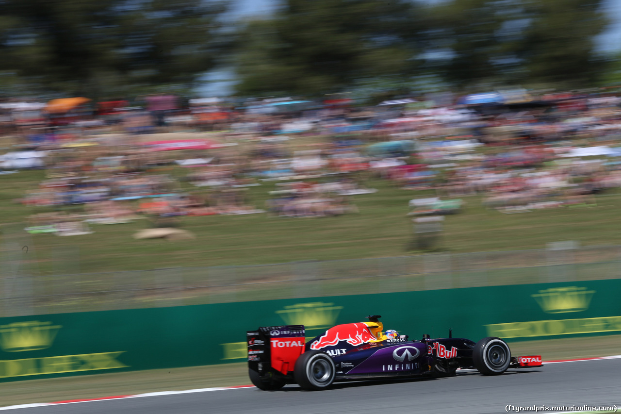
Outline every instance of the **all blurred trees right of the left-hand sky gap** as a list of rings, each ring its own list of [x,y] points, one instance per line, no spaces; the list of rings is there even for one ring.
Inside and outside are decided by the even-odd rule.
[[[586,87],[602,70],[600,0],[285,0],[240,31],[237,91],[321,94],[368,78]]]

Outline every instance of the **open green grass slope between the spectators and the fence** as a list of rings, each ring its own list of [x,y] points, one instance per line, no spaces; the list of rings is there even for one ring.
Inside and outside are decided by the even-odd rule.
[[[53,208],[25,207],[13,200],[34,190],[43,174],[0,176],[4,239],[29,246],[27,258],[33,272],[43,275],[420,254],[410,249],[413,233],[407,203],[433,195],[429,190],[401,190],[383,180],[369,179],[366,185],[379,191],[354,197],[358,214],[333,218],[274,218],[267,214],[184,217],[182,227],[196,234],[196,239],[184,241],[135,240],[132,234],[148,227],[146,219],[91,224],[94,233],[85,236],[31,236],[23,231],[27,217]],[[252,187],[250,200],[264,208],[267,191],[272,188],[271,183]],[[621,244],[620,191],[597,196],[594,207],[519,214],[487,210],[479,196],[463,199],[465,210],[445,219],[442,251],[542,249],[548,242],[564,240],[579,241],[582,246]]]

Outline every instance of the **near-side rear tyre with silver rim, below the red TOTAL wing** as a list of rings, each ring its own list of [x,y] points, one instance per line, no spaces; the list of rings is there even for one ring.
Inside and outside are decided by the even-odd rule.
[[[294,375],[305,390],[323,390],[332,385],[337,369],[332,358],[321,351],[304,352],[296,361]]]

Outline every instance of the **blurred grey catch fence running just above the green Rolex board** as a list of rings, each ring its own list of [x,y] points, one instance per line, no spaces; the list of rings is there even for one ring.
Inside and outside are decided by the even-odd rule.
[[[621,278],[621,246],[54,275],[11,251],[0,317]]]

